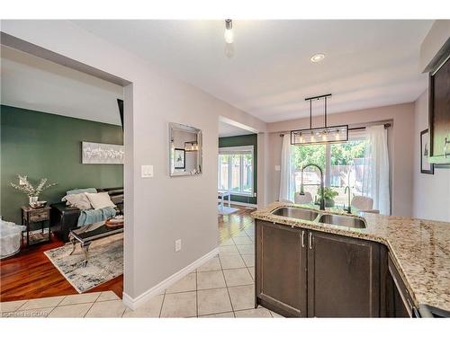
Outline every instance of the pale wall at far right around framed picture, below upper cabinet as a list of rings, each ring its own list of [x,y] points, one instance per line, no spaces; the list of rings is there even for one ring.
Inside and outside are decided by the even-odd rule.
[[[450,221],[450,168],[420,173],[420,131],[428,129],[428,90],[414,104],[413,217]]]

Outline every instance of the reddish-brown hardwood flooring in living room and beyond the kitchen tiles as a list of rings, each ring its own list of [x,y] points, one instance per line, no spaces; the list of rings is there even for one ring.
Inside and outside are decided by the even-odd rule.
[[[255,208],[238,208],[238,211],[219,216],[219,242],[229,239],[254,221],[250,213]],[[0,261],[0,302],[77,294],[67,279],[53,266],[44,252],[64,243],[52,236],[49,244],[24,248],[21,253]],[[88,292],[112,290],[118,297],[123,292],[123,275],[111,279]]]

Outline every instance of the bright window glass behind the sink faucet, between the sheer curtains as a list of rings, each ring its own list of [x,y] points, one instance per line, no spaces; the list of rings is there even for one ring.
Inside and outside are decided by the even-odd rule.
[[[337,205],[347,204],[346,186],[352,188],[352,194],[361,195],[364,157],[364,136],[352,137],[345,143],[320,144],[310,146],[293,146],[293,191],[300,191],[302,167],[305,164],[319,165],[324,174],[325,186],[338,191],[335,198]],[[303,172],[304,191],[309,191],[314,199],[320,184],[320,173],[315,167],[308,167]]]

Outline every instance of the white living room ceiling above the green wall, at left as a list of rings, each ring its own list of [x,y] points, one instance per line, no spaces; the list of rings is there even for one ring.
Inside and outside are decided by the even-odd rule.
[[[1,61],[2,104],[121,125],[120,85],[4,46]]]

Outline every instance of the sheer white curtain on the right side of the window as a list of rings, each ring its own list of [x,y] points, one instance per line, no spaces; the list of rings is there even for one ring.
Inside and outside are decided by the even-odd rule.
[[[374,209],[391,214],[389,193],[388,133],[383,125],[366,128],[363,195],[374,200]]]

